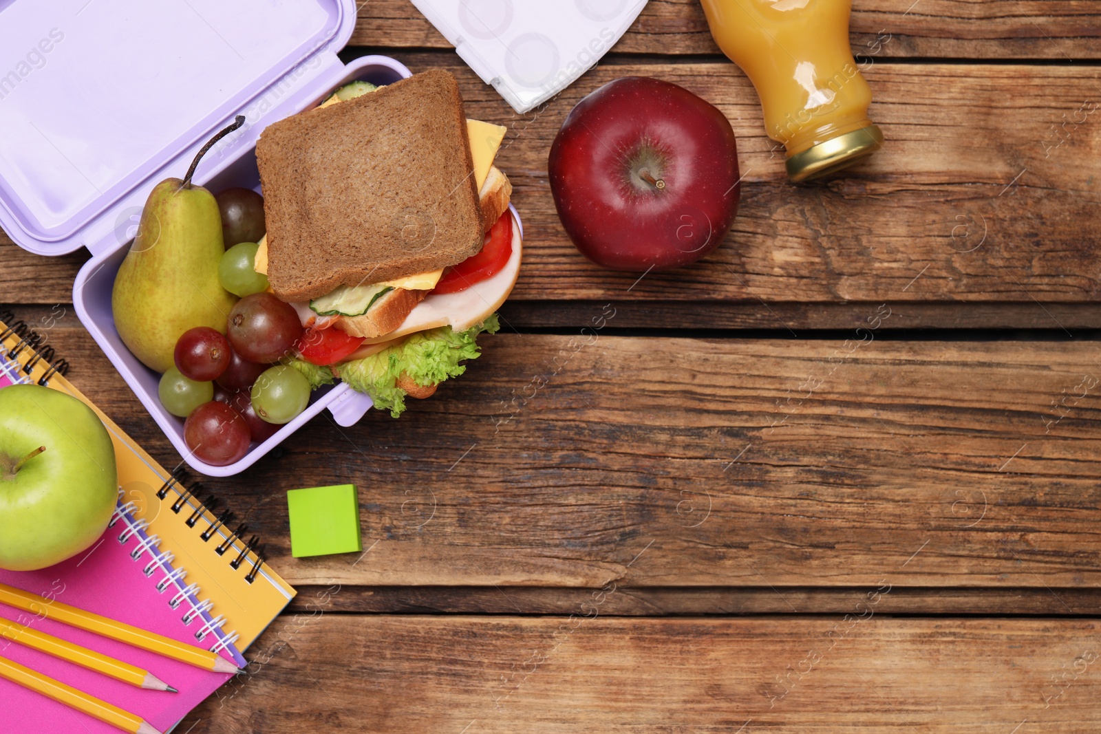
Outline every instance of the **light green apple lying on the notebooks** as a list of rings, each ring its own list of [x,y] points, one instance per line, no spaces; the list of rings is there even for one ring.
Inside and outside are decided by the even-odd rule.
[[[99,539],[115,512],[115,449],[87,405],[56,390],[0,390],[0,568],[33,571]]]

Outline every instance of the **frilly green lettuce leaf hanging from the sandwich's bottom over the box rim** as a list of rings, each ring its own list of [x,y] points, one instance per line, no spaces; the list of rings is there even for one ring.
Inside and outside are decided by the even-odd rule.
[[[467,371],[459,362],[481,354],[478,335],[495,333],[500,328],[493,314],[466,331],[455,331],[449,326],[419,331],[378,354],[339,364],[335,372],[352,390],[370,395],[374,407],[390,410],[396,418],[405,410],[406,393],[396,384],[403,372],[423,387],[457,377]]]

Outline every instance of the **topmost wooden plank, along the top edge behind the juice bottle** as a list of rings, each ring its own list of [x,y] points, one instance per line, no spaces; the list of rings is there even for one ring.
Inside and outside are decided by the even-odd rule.
[[[969,3],[855,0],[854,54],[883,58],[1097,58],[1101,20],[1088,2]],[[408,0],[371,0],[359,10],[352,45],[450,48]],[[655,0],[614,46],[617,53],[718,54],[698,0]]]

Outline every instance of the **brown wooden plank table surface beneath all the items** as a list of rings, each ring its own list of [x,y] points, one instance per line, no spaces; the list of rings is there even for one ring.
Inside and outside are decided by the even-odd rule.
[[[855,6],[886,147],[793,186],[695,0],[527,116],[363,4],[346,58],[448,68],[510,127],[524,272],[434,398],[209,482],[299,596],[178,731],[1101,730],[1101,6]],[[546,176],[631,74],[718,105],[745,173],[722,247],[642,280],[576,253]],[[85,259],[3,240],[3,299],[174,464],[68,305]],[[292,559],[284,492],[342,482],[367,551]]]

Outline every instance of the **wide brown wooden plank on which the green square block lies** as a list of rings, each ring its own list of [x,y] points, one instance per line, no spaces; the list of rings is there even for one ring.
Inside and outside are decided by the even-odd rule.
[[[72,319],[73,381],[174,464]],[[207,486],[292,583],[1101,582],[1093,342],[862,340],[504,332],[401,419],[319,416]],[[292,559],[283,492],[345,482],[366,554]]]

